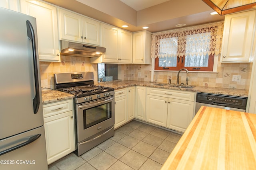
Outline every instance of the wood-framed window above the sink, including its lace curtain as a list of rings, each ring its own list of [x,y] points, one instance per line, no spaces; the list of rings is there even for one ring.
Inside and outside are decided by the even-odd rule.
[[[155,70],[213,71],[222,27],[223,22],[156,33],[152,38]]]

